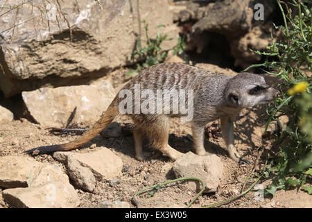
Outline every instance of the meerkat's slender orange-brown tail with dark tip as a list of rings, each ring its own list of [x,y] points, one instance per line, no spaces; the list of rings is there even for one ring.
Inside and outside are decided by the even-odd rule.
[[[53,153],[56,151],[71,151],[75,148],[83,146],[87,144],[91,139],[93,139],[98,133],[108,126],[114,118],[119,114],[118,105],[115,103],[114,100],[111,105],[107,108],[105,114],[102,115],[98,121],[94,124],[94,126],[85,132],[81,137],[75,139],[71,142],[66,144],[58,144],[58,145],[51,145],[51,146],[40,146],[37,148],[33,148],[31,150],[25,151],[24,153],[28,153],[31,155],[39,155],[44,153]]]

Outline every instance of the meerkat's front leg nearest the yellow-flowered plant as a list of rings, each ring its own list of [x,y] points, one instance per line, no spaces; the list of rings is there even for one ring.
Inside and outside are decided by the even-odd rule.
[[[227,146],[227,151],[229,152],[229,157],[236,162],[241,160],[241,156],[236,151],[234,146],[234,117],[224,117],[221,118],[221,129],[222,129],[222,137]]]

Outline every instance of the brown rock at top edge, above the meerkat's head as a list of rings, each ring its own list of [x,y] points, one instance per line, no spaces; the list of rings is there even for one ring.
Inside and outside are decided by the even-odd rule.
[[[255,19],[254,15],[259,8],[254,8],[256,4],[263,6],[263,20]],[[228,39],[236,39],[248,33],[252,26],[261,25],[270,19],[270,15],[276,8],[274,1],[266,0],[224,0],[208,3],[204,12],[194,3],[189,3],[188,10],[197,14],[198,22],[194,24],[193,31],[202,33],[203,31],[217,32],[227,36]],[[192,6],[192,7],[190,7]],[[258,15],[258,13],[257,13]]]

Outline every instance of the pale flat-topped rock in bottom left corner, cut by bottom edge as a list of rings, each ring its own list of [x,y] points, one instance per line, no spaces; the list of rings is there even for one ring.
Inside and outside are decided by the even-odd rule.
[[[80,204],[73,186],[62,181],[48,182],[39,187],[5,189],[3,199],[18,208],[67,208]]]

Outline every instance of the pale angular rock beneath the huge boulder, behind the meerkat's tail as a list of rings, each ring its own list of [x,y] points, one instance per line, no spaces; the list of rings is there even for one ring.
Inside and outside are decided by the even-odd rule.
[[[115,92],[110,82],[101,80],[96,85],[45,87],[21,95],[35,121],[44,127],[62,128],[75,107],[72,123],[92,126],[110,105]]]

